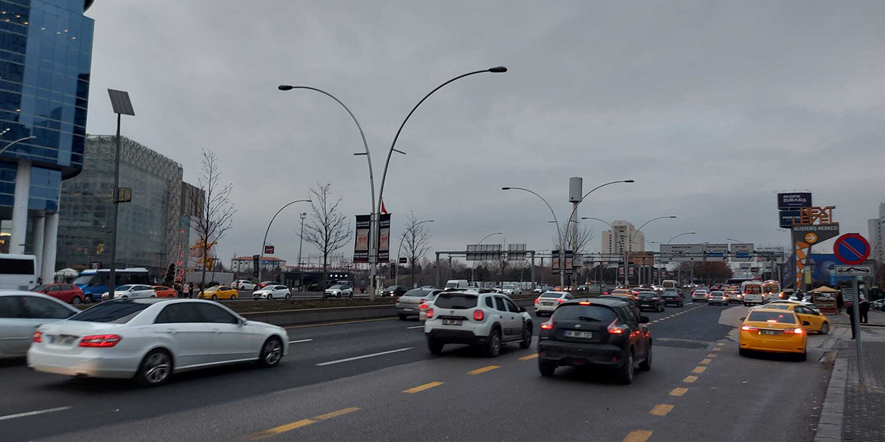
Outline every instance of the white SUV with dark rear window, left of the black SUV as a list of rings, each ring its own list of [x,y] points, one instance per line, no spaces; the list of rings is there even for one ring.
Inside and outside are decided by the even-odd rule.
[[[440,354],[446,344],[482,346],[489,357],[501,352],[501,344],[532,343],[532,316],[507,295],[483,291],[440,293],[427,309],[424,335],[430,353]]]

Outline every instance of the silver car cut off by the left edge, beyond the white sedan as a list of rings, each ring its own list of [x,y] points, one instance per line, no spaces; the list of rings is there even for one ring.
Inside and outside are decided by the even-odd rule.
[[[0,359],[4,359],[27,354],[41,324],[61,321],[80,310],[43,293],[0,290],[0,313]]]

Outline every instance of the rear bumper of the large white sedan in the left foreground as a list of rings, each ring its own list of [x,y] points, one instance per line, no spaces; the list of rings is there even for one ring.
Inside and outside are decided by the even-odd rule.
[[[112,377],[128,379],[135,376],[140,360],[131,356],[110,357],[107,355],[58,354],[48,353],[40,348],[27,352],[27,366],[43,373],[73,377]]]

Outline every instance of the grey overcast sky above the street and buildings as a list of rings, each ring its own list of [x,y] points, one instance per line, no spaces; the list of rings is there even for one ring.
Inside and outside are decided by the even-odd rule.
[[[507,66],[441,89],[397,141],[408,155],[394,154],[384,192],[392,236],[414,211],[435,219],[431,250],[489,232],[550,249],[543,202],[500,189],[531,188],[564,219],[573,176],[585,192],[635,179],[590,195],[579,215],[678,216],[643,229],[657,241],[691,231],[683,239],[786,246],[775,193],[804,189],[836,206],[842,232],[866,235],[885,198],[881,2],[99,0],[87,15],[89,133],[113,133],[106,90],[117,88],[136,113],[123,133],[181,163],[186,180],[200,148],[215,151],[238,209],[219,244],[226,263],[257,254],[273,213],[317,182],[349,216],[370,211],[357,127],[327,96],[281,83],[350,107],[378,187],[423,95]],[[307,209],[290,206],[268,237],[292,263]],[[605,227],[585,222],[598,250]]]

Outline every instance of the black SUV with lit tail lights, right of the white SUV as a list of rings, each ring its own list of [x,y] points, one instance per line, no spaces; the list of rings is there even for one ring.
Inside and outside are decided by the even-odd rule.
[[[538,370],[553,376],[560,365],[615,369],[622,384],[632,384],[635,365],[651,370],[649,318],[637,316],[627,302],[594,298],[559,304],[541,324]]]

